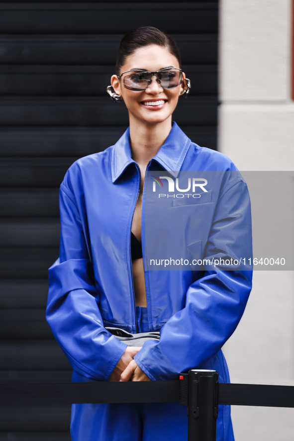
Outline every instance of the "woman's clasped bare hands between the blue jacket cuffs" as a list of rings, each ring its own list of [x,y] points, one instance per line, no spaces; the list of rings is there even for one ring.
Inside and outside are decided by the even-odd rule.
[[[111,372],[108,381],[151,381],[134,360],[141,347],[128,346]]]

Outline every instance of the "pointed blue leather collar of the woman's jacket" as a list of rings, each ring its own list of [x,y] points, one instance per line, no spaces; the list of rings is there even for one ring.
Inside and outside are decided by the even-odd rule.
[[[184,158],[187,154],[191,140],[180,129],[178,124],[173,121],[173,126],[169,136],[160,147],[153,160],[157,161],[168,172],[179,172]],[[130,128],[128,127],[124,134],[113,146],[111,158],[112,182],[121,176],[127,166],[135,161],[131,157],[130,148]],[[177,173],[175,174],[177,175]]]

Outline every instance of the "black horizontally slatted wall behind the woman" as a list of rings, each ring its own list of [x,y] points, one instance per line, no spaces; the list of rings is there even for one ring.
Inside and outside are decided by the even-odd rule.
[[[47,268],[58,257],[58,187],[79,157],[128,125],[105,88],[119,41],[170,33],[191,79],[174,119],[216,148],[217,1],[0,2],[0,381],[70,381],[45,322]],[[66,441],[70,409],[0,408],[0,441]]]

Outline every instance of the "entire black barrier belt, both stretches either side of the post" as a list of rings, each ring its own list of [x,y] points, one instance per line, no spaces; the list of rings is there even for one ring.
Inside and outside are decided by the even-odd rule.
[[[0,405],[180,402],[180,381],[0,383]],[[294,386],[218,384],[218,404],[294,407]]]

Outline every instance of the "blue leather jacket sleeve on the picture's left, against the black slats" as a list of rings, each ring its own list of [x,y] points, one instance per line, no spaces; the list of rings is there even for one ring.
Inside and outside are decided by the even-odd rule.
[[[46,319],[72,367],[107,380],[126,345],[103,327],[81,217],[74,195],[63,184],[60,221],[60,257],[49,268]]]

